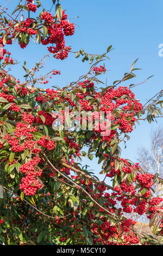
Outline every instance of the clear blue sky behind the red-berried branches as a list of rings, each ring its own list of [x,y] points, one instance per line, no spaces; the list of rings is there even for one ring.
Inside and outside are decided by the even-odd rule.
[[[9,8],[13,8],[13,2],[18,1],[9,3]],[[42,0],[42,3],[49,9],[52,0]],[[154,77],[134,88],[136,99],[145,103],[146,99],[162,89],[163,57],[158,55],[159,44],[163,44],[162,0],[61,0],[60,3],[62,8],[67,10],[68,19],[77,24],[75,34],[66,38],[67,46],[72,46],[74,51],[84,48],[88,53],[104,53],[109,45],[115,48],[109,54],[110,61],[105,62],[109,71],[103,76],[103,81],[106,77],[108,84],[120,80],[124,72],[129,72],[134,60],[139,58],[136,68],[142,70],[136,72],[137,77],[130,80],[131,83],[140,83],[151,75]],[[54,11],[54,8],[52,10]],[[76,16],[79,18],[73,19]],[[9,50],[11,48],[12,56],[20,62],[11,72],[20,79],[24,60],[27,61],[27,68],[32,68],[35,60],[39,61],[40,57],[47,53],[45,46],[37,46],[34,42],[31,42],[26,50],[22,50],[17,44],[14,47],[8,46]],[[60,70],[61,75],[55,76],[48,87],[63,87],[71,81],[76,81],[80,75],[86,74],[88,66],[88,62],[83,63],[70,54],[64,61],[53,58],[48,60],[43,74],[50,68]],[[124,83],[124,86],[130,84],[130,81]],[[122,157],[137,161],[137,148],[149,148],[150,132],[161,124],[161,118],[158,118],[158,124],[150,125],[147,121],[141,121],[140,126],[137,125],[136,130],[130,134],[127,148],[124,149],[122,145]],[[84,160],[85,163],[90,161]],[[90,165],[91,169],[96,170],[96,174],[100,171],[96,160]]]

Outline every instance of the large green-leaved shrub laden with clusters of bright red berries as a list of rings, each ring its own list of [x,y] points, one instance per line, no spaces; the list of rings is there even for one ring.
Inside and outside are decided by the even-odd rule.
[[[162,235],[162,198],[153,197],[153,184],[162,184],[157,174],[143,172],[139,163],[121,158],[120,144],[129,139],[128,133],[147,113],[154,120],[161,114],[160,94],[154,103],[142,104],[135,99],[131,88],[120,84],[135,77],[136,61],[129,72],[112,86],[103,84],[97,77],[106,72],[101,62],[107,54],[89,54],[82,49],[74,52],[76,58],[90,61],[86,75],[62,89],[35,88],[37,83],[48,83],[48,76],[58,75],[52,70],[39,78],[36,71],[42,68],[42,60],[50,54],[65,59],[70,47],[65,46],[65,36],[73,35],[74,25],[67,20],[60,3],[55,3],[56,14],[43,8],[41,1],[20,1],[10,15],[1,8],[1,39],[3,47],[18,41],[21,48],[30,44],[48,46],[49,53],[26,68],[25,81],[18,81],[8,74],[7,67],[14,65],[10,53],[3,48],[0,82],[0,243],[5,245],[131,245],[155,241],[143,237],[134,230],[136,223],[125,213],[146,214],[156,235]],[[22,4],[22,5],[21,5]],[[40,15],[37,15],[41,9]],[[27,19],[21,13],[26,11]],[[36,14],[35,14],[36,13]],[[35,37],[35,39],[34,39]],[[55,46],[54,46],[55,45]],[[39,47],[39,46],[38,46]],[[73,52],[72,52],[73,53]],[[30,86],[29,86],[30,84]],[[54,88],[54,87],[53,87]],[[98,89],[98,92],[97,92]],[[160,107],[158,107],[158,105]],[[152,107],[151,107],[152,106]],[[54,129],[59,111],[66,118],[65,107],[74,111],[87,111],[93,124],[100,112],[111,113],[111,125],[95,127],[93,131]],[[157,110],[155,110],[157,109]],[[150,120],[151,120],[150,119]],[[80,124],[82,119],[77,120]],[[89,122],[87,123],[88,126]],[[109,132],[110,131],[110,132]],[[108,132],[108,133],[103,133]],[[103,136],[101,136],[103,135]],[[88,151],[85,152],[85,147]],[[103,162],[101,173],[112,178],[112,186],[99,181],[79,160],[87,155]],[[110,193],[107,191],[110,190]],[[117,203],[121,202],[121,208]],[[159,240],[158,243],[160,243]]]

